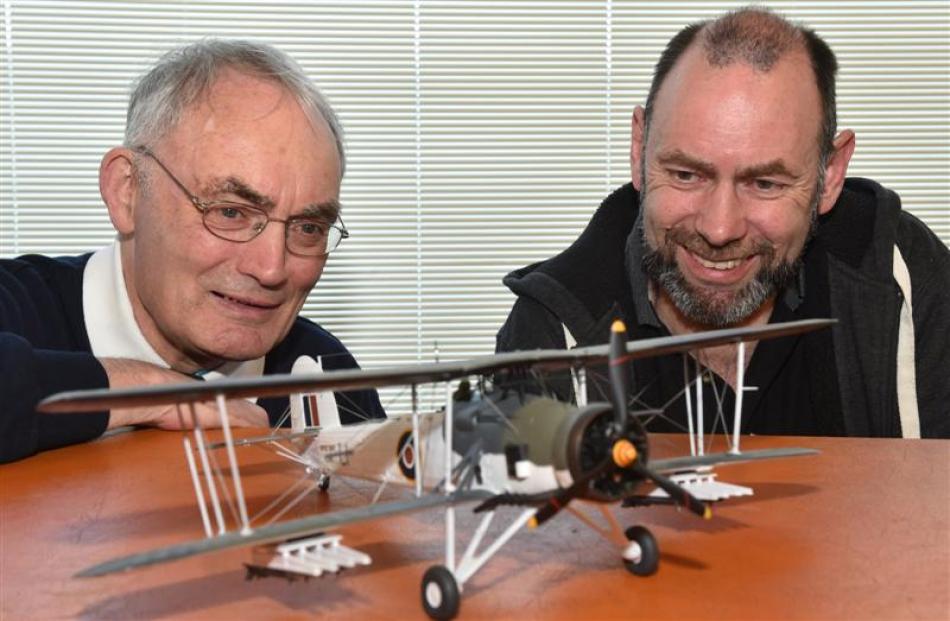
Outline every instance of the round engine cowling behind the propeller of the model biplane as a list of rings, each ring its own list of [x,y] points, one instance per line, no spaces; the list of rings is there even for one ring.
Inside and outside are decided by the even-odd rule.
[[[562,423],[554,442],[555,466],[570,472],[571,479],[577,481],[611,459],[615,440],[610,439],[608,432],[613,422],[614,412],[609,403],[592,403],[575,410]],[[646,435],[631,427],[623,437],[636,447],[640,463],[646,464],[649,451]],[[611,468],[591,480],[580,497],[598,502],[619,500],[632,493],[642,481],[643,477],[632,470]]]

